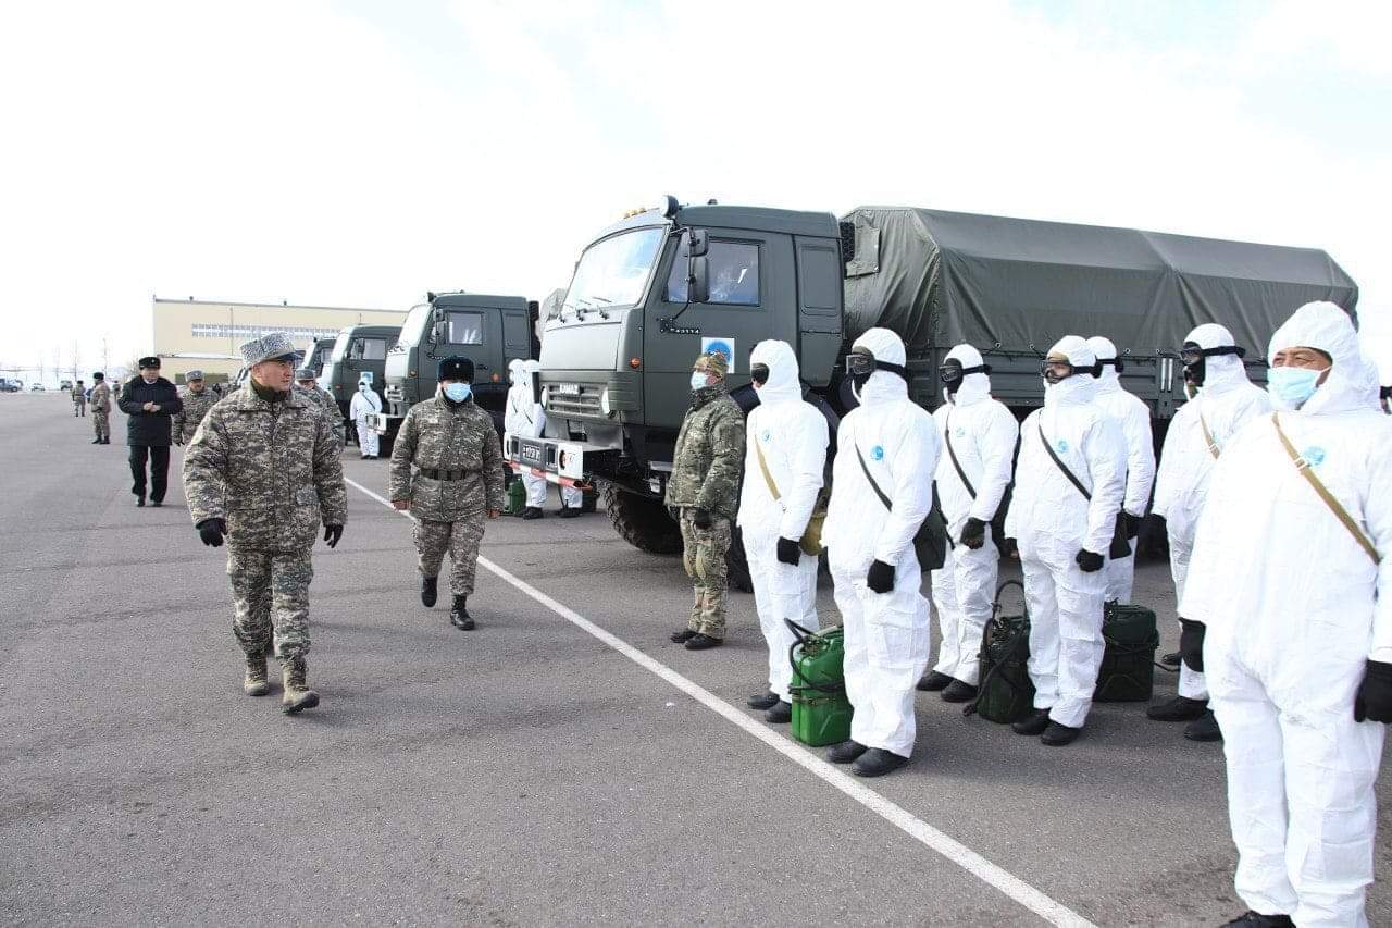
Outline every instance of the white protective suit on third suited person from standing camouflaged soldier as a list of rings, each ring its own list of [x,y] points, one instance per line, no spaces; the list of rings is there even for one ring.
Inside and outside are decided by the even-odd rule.
[[[963,368],[981,365],[981,354],[969,344],[948,351],[947,359],[960,361]],[[991,619],[1001,564],[990,523],[1011,482],[1020,426],[1004,403],[991,399],[991,379],[986,373],[967,373],[955,394],[944,390],[944,399],[948,401],[933,412],[942,438],[935,481],[954,543],[948,546],[942,570],[933,571],[933,608],[941,635],[934,670],[976,686],[981,633]],[[972,484],[970,490],[952,463],[949,443]],[[959,541],[967,517],[987,524],[986,543],[977,550]]]

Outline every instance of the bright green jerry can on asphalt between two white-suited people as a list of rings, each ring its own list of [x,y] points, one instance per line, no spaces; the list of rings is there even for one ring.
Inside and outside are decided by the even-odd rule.
[[[851,701],[841,669],[845,634],[841,626],[809,631],[785,619],[796,638],[788,649],[792,663],[792,737],[809,747],[851,740]]]

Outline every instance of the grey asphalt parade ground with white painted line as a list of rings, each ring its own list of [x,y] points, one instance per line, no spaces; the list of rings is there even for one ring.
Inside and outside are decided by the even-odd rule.
[[[92,446],[65,399],[0,396],[6,924],[1211,925],[1244,908],[1218,745],[1105,704],[1048,748],[920,694],[912,764],[852,782],[745,709],[764,667],[750,596],[732,594],[724,648],[668,642],[690,602],[678,562],[603,514],[555,518],[554,495],[541,521],[489,525],[486,559],[518,582],[480,566],[479,628],[461,633],[447,595],[420,606],[409,521],[349,486],[342,543],[315,552],[323,704],[283,716],[278,683],[241,693],[226,553],[192,531],[178,450],[166,506],[135,509],[124,425]],[[349,447],[344,470],[386,492],[386,461]],[[1168,569],[1137,573],[1173,649]],[[834,621],[825,582],[821,606]],[[1157,673],[1157,699],[1173,687]],[[1389,858],[1382,840],[1373,924],[1392,924]]]

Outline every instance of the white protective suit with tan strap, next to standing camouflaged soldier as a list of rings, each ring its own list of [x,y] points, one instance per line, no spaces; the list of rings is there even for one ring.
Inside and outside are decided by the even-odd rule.
[[[749,365],[768,365],[768,383],[745,425],[745,484],[739,493],[739,528],[754,584],[754,609],[768,642],[768,690],[789,702],[793,634],[784,619],[816,631],[817,559],[802,555],[798,566],[778,560],[778,539],[802,538],[817,503],[827,464],[827,419],[802,399],[798,355],[785,341],[760,341]],[[760,468],[759,451],[778,490],[774,497]]]

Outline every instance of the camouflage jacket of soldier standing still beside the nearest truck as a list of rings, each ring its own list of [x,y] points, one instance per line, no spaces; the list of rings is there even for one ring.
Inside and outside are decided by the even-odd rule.
[[[665,503],[734,517],[743,468],[745,414],[724,386],[697,390],[677,435]]]

